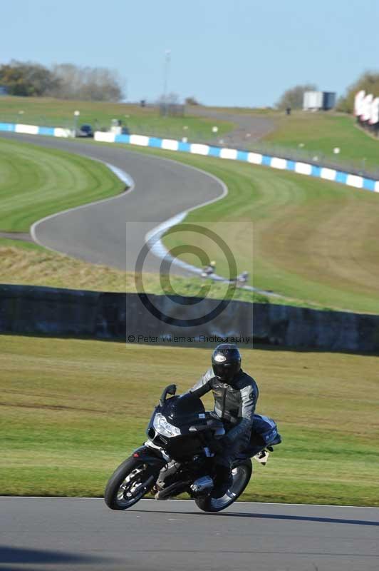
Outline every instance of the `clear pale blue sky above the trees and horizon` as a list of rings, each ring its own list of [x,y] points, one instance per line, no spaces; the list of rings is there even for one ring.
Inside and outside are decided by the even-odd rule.
[[[345,91],[379,69],[378,0],[12,0],[1,2],[0,63],[116,69],[128,101],[169,91],[207,105],[272,105],[312,81]]]

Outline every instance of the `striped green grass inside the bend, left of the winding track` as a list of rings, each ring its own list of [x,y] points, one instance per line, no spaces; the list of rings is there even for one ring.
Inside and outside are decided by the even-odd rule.
[[[44,216],[124,188],[98,161],[0,138],[0,231],[26,232]]]

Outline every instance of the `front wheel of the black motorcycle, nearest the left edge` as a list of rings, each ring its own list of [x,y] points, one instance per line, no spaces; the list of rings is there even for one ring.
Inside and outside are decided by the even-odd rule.
[[[115,470],[105,488],[104,501],[111,510],[128,510],[155,484],[159,470],[136,458],[128,458]]]

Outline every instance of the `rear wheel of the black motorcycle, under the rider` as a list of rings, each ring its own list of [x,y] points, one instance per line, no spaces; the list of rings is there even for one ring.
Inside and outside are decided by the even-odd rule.
[[[232,469],[232,485],[229,490],[222,497],[212,497],[212,492],[207,497],[199,497],[195,500],[197,507],[203,512],[221,512],[244,492],[246,485],[248,485],[251,478],[253,466],[251,460],[246,460],[244,463],[235,466]]]

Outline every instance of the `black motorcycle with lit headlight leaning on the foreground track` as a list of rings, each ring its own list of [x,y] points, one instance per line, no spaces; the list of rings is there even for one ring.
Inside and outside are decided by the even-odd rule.
[[[199,398],[175,393],[176,385],[165,388],[147,426],[145,445],[110,477],[104,498],[110,509],[127,510],[148,492],[155,492],[157,500],[187,492],[201,510],[219,512],[237,500],[249,483],[251,458],[266,464],[269,451],[281,443],[274,420],[254,415],[249,445],[234,460],[227,492],[216,497],[214,450],[225,434],[224,425],[205,411]]]

